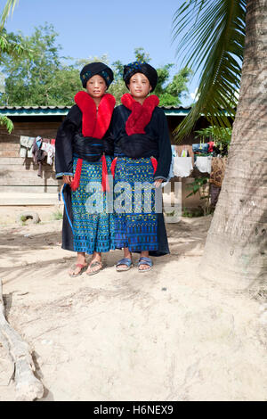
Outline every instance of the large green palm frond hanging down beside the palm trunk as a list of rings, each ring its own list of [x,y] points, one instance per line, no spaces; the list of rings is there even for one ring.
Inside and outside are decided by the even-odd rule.
[[[199,77],[197,102],[174,130],[176,140],[190,133],[200,116],[212,126],[231,127],[239,91],[245,42],[247,0],[187,0],[174,14],[173,42],[182,64]]]

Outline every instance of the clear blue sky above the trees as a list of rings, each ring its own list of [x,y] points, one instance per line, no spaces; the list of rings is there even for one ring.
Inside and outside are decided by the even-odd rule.
[[[4,4],[0,0],[1,9]],[[180,4],[182,0],[20,0],[5,28],[31,35],[36,26],[48,22],[59,34],[61,54],[75,60],[107,53],[110,63],[127,63],[134,59],[134,48],[142,46],[150,53],[151,65],[174,62],[179,70],[171,31]],[[190,92],[195,91],[196,81]],[[189,97],[182,104],[191,102]]]

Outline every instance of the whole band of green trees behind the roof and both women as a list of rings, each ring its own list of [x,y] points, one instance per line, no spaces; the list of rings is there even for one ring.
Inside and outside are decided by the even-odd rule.
[[[38,27],[30,37],[21,33],[7,35],[9,42],[23,45],[30,54],[14,59],[10,53],[3,54],[2,70],[6,75],[4,92],[0,93],[1,105],[13,106],[68,106],[73,104],[74,95],[82,89],[79,71],[88,62],[105,62],[109,64],[108,56],[83,58],[67,65],[61,57],[61,45],[57,44],[58,34],[53,25],[47,23]],[[69,57],[68,57],[69,58]],[[150,62],[150,54],[142,47],[134,49],[133,61]],[[69,62],[71,59],[69,58]],[[120,98],[128,92],[122,79],[124,65],[117,60],[110,65],[114,71],[114,82],[109,86],[109,93]],[[158,94],[160,105],[176,106],[181,103],[182,94],[188,92],[187,82],[191,70],[184,68],[171,78],[174,64],[159,67]]]

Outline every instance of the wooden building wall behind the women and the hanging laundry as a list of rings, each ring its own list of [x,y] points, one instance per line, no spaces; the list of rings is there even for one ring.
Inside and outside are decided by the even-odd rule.
[[[42,136],[55,138],[63,117],[12,117],[14,130],[11,135],[0,127],[0,205],[46,205],[58,202],[61,180],[55,179],[54,167],[44,160],[42,177],[37,176],[38,165],[32,159],[20,158],[20,136]],[[172,144],[174,127],[182,117],[167,117]],[[196,129],[206,126],[205,119],[199,121]],[[181,144],[194,143],[190,135]],[[174,178],[174,181],[181,179]],[[189,193],[186,185],[193,177],[182,178],[182,207],[196,208],[201,201],[198,195],[186,198]]]

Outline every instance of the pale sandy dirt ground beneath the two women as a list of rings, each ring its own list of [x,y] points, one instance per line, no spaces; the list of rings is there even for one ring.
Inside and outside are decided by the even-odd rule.
[[[212,216],[167,225],[171,255],[148,273],[117,273],[111,251],[100,274],[70,278],[53,209],[26,226],[20,210],[0,212],[0,277],[42,400],[266,400],[266,303],[199,273]],[[11,377],[0,344],[0,400],[15,398]]]

